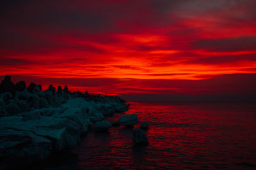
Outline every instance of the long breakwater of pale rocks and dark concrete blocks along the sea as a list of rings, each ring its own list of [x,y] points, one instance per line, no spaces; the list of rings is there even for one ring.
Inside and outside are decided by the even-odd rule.
[[[67,86],[56,91],[52,85],[43,92],[41,85],[26,87],[5,76],[0,85],[0,169],[40,162],[51,152],[72,148],[95,122],[128,109],[120,97],[72,93]],[[98,124],[99,129],[106,126]]]

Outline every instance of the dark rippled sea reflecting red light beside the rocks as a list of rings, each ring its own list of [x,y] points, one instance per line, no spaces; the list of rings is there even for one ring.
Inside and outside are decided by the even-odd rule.
[[[132,145],[132,129],[89,132],[42,169],[256,169],[256,104],[131,103],[127,113],[148,122],[148,146]]]

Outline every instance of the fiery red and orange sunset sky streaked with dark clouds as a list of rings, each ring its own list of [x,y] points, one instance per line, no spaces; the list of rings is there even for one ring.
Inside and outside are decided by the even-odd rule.
[[[0,4],[1,80],[129,101],[256,96],[255,0]]]

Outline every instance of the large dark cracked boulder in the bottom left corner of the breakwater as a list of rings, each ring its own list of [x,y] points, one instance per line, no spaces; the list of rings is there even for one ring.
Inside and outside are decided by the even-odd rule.
[[[29,131],[0,129],[0,169],[17,169],[46,159],[52,151],[49,139]]]

